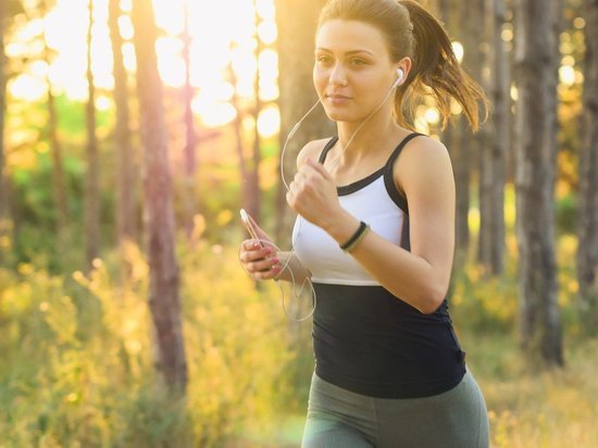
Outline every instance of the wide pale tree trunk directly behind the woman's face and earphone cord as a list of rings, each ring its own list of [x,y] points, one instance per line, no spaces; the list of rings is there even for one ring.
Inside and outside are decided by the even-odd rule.
[[[276,0],[278,28],[278,85],[281,110],[281,151],[288,133],[317,100],[313,87],[313,50],[315,27],[325,0],[304,0],[297,8],[291,0]],[[322,107],[316,108],[290,139],[284,158],[283,172],[287,183],[297,171],[297,154],[308,141],[332,136],[334,124],[326,117]],[[281,170],[278,170],[281,172]],[[281,178],[276,199],[276,240],[285,246],[290,241],[291,213],[286,203],[286,188]]]

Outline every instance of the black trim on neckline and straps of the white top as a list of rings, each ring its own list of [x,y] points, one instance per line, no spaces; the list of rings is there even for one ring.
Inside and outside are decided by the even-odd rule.
[[[366,187],[371,183],[373,183],[375,179],[377,179],[381,175],[384,174],[384,183],[386,185],[386,190],[388,191],[388,195],[390,196],[390,199],[393,199],[393,202],[395,202],[406,214],[408,213],[408,207],[407,207],[407,199],[397,190],[397,187],[395,186],[395,182],[393,179],[393,164],[395,163],[395,160],[399,157],[404,146],[414,137],[418,137],[420,133],[412,133],[409,134],[407,137],[404,137],[400,144],[395,148],[393,153],[390,154],[388,161],[382,166],[381,169],[376,170],[372,174],[369,174],[367,176],[356,181],[348,185],[337,186],[336,191],[338,196],[347,196],[351,195],[356,191],[359,191],[360,189]],[[320,153],[319,162],[321,164],[324,164],[326,161],[326,157],[328,155],[328,152],[338,141],[338,136],[332,137],[328,142],[324,146],[324,149],[322,149],[322,152]],[[389,173],[389,176],[388,176]]]

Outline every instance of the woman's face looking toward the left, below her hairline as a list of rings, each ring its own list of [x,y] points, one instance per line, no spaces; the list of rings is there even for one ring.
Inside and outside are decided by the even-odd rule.
[[[331,120],[365,119],[384,100],[398,67],[382,33],[367,23],[335,18],[317,30],[313,83]]]

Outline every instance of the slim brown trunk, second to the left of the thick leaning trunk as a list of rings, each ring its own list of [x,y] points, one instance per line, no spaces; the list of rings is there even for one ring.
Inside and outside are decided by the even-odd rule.
[[[96,88],[91,72],[91,27],[94,26],[94,0],[89,0],[89,26],[87,30],[87,173],[85,176],[85,234],[87,269],[100,252],[100,186],[98,138],[96,136]]]

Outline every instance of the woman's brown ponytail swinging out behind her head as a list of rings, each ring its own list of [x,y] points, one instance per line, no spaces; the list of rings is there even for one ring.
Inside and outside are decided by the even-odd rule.
[[[441,126],[446,127],[454,99],[462,108],[473,130],[479,128],[482,103],[485,121],[488,101],[479,86],[459,64],[445,28],[434,15],[413,0],[400,0],[411,18],[413,67],[401,89],[395,96],[397,121],[412,127],[418,97],[432,94],[440,111]]]

